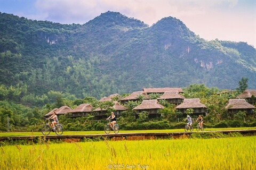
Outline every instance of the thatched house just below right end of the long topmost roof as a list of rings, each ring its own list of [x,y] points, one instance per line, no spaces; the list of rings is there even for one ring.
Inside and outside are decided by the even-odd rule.
[[[180,105],[183,103],[183,100],[185,99],[184,96],[180,95],[178,91],[165,91],[162,96],[157,98],[157,100],[164,99],[170,104],[174,104],[175,106]]]

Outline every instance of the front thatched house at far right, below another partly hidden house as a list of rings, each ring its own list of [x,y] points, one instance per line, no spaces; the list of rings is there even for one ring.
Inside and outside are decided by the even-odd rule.
[[[246,115],[254,115],[253,109],[255,107],[246,102],[245,99],[229,99],[228,105],[225,107],[228,109],[229,116],[241,112],[246,112]]]

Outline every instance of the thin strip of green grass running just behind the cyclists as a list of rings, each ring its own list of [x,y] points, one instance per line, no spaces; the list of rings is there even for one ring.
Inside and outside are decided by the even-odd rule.
[[[205,131],[222,131],[222,130],[250,130],[253,128],[206,128]],[[194,129],[196,131],[196,129]],[[130,130],[119,131],[119,133],[156,133],[156,132],[184,132],[184,129],[165,129],[165,130]],[[64,131],[63,135],[84,135],[84,134],[105,134],[104,131]],[[0,137],[42,135],[42,132],[2,132]],[[50,135],[56,135],[51,132]]]

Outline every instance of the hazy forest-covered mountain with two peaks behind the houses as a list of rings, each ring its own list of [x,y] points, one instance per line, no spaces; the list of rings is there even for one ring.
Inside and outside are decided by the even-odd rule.
[[[149,27],[109,11],[83,25],[0,12],[0,86],[23,96],[54,90],[101,98],[195,83],[235,89],[242,77],[256,88],[254,47],[206,41],[171,16]]]

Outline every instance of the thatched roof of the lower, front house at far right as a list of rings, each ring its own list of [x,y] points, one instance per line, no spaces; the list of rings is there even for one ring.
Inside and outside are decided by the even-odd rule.
[[[229,99],[227,109],[253,109],[253,105],[246,102],[245,99]]]

